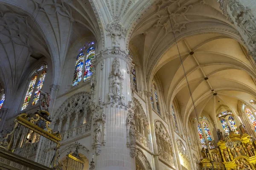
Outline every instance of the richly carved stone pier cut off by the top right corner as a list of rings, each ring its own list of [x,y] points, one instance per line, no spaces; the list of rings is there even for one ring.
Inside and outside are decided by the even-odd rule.
[[[256,62],[256,2],[255,0],[218,0],[223,14],[227,15],[241,34],[249,50],[250,56]]]

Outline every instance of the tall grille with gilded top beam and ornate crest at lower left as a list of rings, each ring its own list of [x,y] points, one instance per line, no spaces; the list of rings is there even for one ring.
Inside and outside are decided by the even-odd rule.
[[[0,141],[0,147],[47,167],[58,164],[61,136],[49,128],[47,111],[22,113],[15,119],[12,132]]]

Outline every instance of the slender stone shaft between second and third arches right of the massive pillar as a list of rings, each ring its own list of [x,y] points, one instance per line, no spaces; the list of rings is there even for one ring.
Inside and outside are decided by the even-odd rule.
[[[171,132],[171,136],[172,136],[172,141],[173,141],[173,147],[174,147],[174,156],[176,158],[176,161],[177,161],[177,164],[176,164],[176,167],[181,170],[181,164],[180,164],[180,157],[179,157],[179,152],[178,152],[178,149],[177,149],[177,144],[176,144],[176,140],[175,140],[175,135],[174,135],[174,132],[176,130],[174,130],[173,128],[173,121],[172,121],[172,116],[168,113],[166,113],[166,116],[168,115],[168,118],[167,118],[167,121],[168,121],[168,126],[169,126],[169,130]]]

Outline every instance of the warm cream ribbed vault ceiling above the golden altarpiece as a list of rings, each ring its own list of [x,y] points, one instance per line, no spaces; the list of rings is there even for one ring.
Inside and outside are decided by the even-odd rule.
[[[184,38],[178,47],[199,114],[206,113],[215,119],[221,105],[239,113],[240,101],[249,103],[256,99],[255,66],[236,40],[221,34],[200,34]],[[177,99],[183,121],[189,115],[195,118],[176,45],[161,57],[156,74],[166,101],[170,104]]]

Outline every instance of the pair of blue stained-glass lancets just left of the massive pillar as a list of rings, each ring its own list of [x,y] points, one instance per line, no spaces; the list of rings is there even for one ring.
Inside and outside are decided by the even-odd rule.
[[[76,67],[75,67],[75,73],[73,77],[73,83],[72,86],[75,87],[79,84],[79,82],[82,79],[82,72],[84,69],[84,82],[89,80],[93,73],[93,65],[91,63],[91,59],[95,55],[95,47],[93,46],[94,42],[90,42],[87,45],[84,45],[83,48],[80,49],[79,55],[76,57]],[[86,51],[86,57],[85,52]],[[85,58],[85,64],[84,64],[84,58]]]

